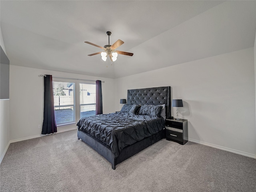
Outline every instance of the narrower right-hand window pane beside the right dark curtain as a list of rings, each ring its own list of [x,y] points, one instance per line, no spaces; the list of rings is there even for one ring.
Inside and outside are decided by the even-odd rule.
[[[96,85],[80,83],[80,118],[96,114]]]

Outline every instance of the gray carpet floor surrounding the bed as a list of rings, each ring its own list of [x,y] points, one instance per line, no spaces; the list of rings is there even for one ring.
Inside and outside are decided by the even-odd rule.
[[[1,192],[255,192],[256,159],[160,140],[112,170],[76,130],[11,143]]]

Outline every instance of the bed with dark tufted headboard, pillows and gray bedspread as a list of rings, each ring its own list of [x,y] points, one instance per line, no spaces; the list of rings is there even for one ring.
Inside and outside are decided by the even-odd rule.
[[[120,112],[81,118],[78,139],[106,158],[115,170],[120,162],[165,138],[165,118],[171,117],[170,97],[170,86],[127,90],[127,104]]]

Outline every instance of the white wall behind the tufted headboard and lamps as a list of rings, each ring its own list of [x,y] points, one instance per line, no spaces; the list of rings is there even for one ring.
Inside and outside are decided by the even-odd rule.
[[[179,116],[188,119],[190,141],[256,158],[253,50],[118,78],[115,109],[128,89],[171,86],[172,98],[183,100]]]

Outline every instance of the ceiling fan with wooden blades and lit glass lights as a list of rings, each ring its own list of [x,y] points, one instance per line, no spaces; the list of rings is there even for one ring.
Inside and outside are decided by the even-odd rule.
[[[118,39],[116,42],[114,42],[114,44],[110,45],[109,36],[111,35],[111,32],[107,31],[107,35],[108,35],[108,45],[105,45],[104,47],[98,46],[98,45],[93,44],[93,43],[88,42],[88,41],[85,42],[85,43],[88,43],[90,45],[99,47],[99,48],[104,50],[104,52],[97,52],[97,53],[90,54],[88,56],[101,54],[102,60],[104,60],[104,61],[107,60],[107,56],[109,56],[111,61],[116,61],[116,58],[117,58],[118,54],[133,56],[133,53],[128,53],[128,52],[116,50],[116,48],[118,48],[120,45],[124,44],[124,42],[122,40]]]

